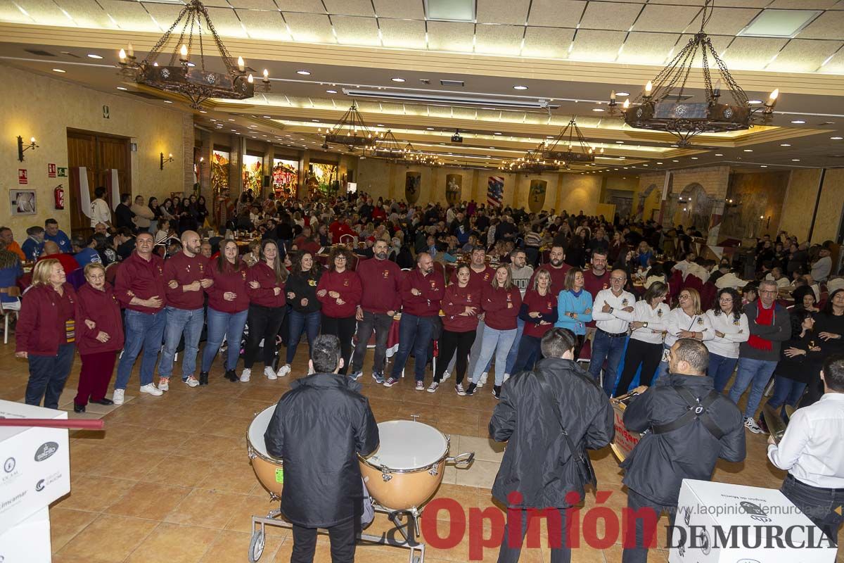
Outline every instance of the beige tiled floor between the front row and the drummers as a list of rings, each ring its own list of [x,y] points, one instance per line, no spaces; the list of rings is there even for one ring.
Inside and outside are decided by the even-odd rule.
[[[300,349],[293,373],[304,373],[306,347]],[[371,361],[371,355],[367,359]],[[0,348],[0,398],[19,400],[24,395],[27,367],[14,359],[14,344]],[[369,364],[366,364],[367,370]],[[176,373],[178,373],[178,367]],[[292,377],[275,382],[256,370],[248,383],[222,377],[219,360],[208,387],[190,389],[179,382],[163,397],[140,395],[137,368],[130,382],[127,403],[119,408],[89,408],[89,417],[104,417],[105,432],[74,431],[71,435],[71,493],[51,506],[53,560],[56,563],[227,563],[246,561],[252,515],[265,515],[275,503],[257,482],[246,456],[246,430],[255,414],[275,403],[289,388]],[[408,419],[434,425],[452,435],[452,454],[475,452],[468,470],[447,467],[436,497],[456,500],[469,510],[493,508],[503,514],[490,495],[503,447],[487,439],[487,424],[495,399],[484,388],[479,395],[461,398],[450,380],[439,392],[416,392],[409,379],[397,387],[376,385],[368,371],[361,380],[377,420]],[[74,365],[62,407],[72,411],[78,378]],[[175,380],[174,380],[175,381]],[[71,417],[79,415],[70,413]],[[783,473],[765,457],[765,437],[748,434],[744,463],[719,463],[715,479],[729,483],[778,488]],[[604,504],[619,515],[626,505],[621,471],[605,449],[593,452],[601,490],[612,491]],[[595,505],[587,495],[585,509]],[[447,512],[426,515],[424,535],[444,538],[451,522]],[[436,519],[435,519],[436,518]],[[666,519],[660,522],[660,526]],[[471,527],[471,523],[469,526]],[[376,517],[368,533],[387,531],[389,523]],[[599,528],[603,528],[599,526]],[[289,561],[292,539],[286,528],[268,527],[262,562]],[[484,537],[491,529],[484,525]],[[545,532],[541,533],[545,536]],[[664,528],[660,528],[664,544]],[[330,560],[327,539],[319,540],[317,563]],[[407,561],[407,551],[386,546],[361,546],[357,560],[367,563]],[[468,533],[449,549],[428,547],[429,563],[466,561]],[[473,554],[475,555],[475,554]],[[522,551],[522,561],[548,561],[542,546]],[[663,563],[667,552],[652,550],[650,561]],[[497,549],[484,549],[483,560],[494,561]],[[575,549],[575,562],[615,563],[621,559],[619,542],[607,549]],[[839,557],[844,561],[844,558]]]

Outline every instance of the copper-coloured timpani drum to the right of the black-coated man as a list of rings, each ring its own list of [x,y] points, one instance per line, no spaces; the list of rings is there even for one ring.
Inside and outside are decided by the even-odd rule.
[[[358,456],[360,474],[372,498],[389,510],[422,506],[440,486],[446,463],[468,465],[474,459],[474,452],[448,457],[451,438],[421,422],[381,422],[378,435],[376,452]]]

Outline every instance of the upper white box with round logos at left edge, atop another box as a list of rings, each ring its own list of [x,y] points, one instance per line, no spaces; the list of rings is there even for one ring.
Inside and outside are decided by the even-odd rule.
[[[63,410],[0,401],[0,418],[66,420]],[[0,534],[70,492],[68,430],[0,426]]]

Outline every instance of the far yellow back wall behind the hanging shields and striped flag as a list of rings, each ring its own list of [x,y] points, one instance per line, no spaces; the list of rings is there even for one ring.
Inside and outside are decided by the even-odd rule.
[[[601,196],[602,178],[595,174],[556,173],[525,176],[500,171],[405,166],[373,158],[358,160],[358,189],[371,193],[375,199],[404,199],[404,178],[407,171],[418,171],[422,175],[422,185],[417,201],[419,205],[429,202],[446,203],[446,176],[448,174],[463,176],[462,199],[464,201],[474,199],[476,202],[485,203],[487,181],[490,176],[504,177],[503,204],[505,206],[515,205],[517,208],[527,209],[530,182],[534,179],[548,182],[544,209],[554,208],[557,212],[567,209],[570,213],[576,213],[582,209],[584,213],[592,214]]]

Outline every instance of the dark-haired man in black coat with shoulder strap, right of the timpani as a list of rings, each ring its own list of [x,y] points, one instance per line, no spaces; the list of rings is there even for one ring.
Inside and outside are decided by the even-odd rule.
[[[509,529],[521,525],[519,538],[524,538],[528,508],[548,517],[551,560],[571,560],[564,539],[565,508],[572,499],[566,495],[575,492],[582,499],[586,485],[577,457],[583,448],[598,449],[613,440],[613,409],[595,380],[574,361],[575,343],[575,335],[565,328],[546,333],[541,344],[545,359],[536,373],[522,371],[507,380],[492,414],[490,436],[507,442],[492,495],[511,509],[522,509],[515,511],[518,522],[511,521],[514,511],[507,511],[499,563],[519,560],[522,540],[511,544]],[[576,452],[571,452],[560,426]]]

